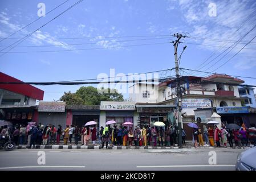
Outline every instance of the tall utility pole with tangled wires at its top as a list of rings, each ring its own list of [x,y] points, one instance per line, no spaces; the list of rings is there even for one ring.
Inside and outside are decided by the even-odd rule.
[[[185,36],[181,34],[174,34],[174,37],[177,38],[175,42],[173,41],[174,46],[174,58],[175,58],[175,72],[176,72],[176,96],[177,96],[177,119],[178,119],[178,146],[182,148],[182,129],[181,129],[181,96],[182,93],[180,92],[180,76],[178,74],[179,67],[178,67],[178,55],[177,55],[177,49],[178,44],[180,43],[181,38],[185,38]]]

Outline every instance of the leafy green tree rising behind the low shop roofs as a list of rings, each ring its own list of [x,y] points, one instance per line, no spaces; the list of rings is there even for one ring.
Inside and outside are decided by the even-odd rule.
[[[100,105],[100,101],[124,101],[124,98],[115,89],[101,88],[98,92],[93,86],[82,86],[76,93],[65,92],[60,100],[66,101],[67,105]]]

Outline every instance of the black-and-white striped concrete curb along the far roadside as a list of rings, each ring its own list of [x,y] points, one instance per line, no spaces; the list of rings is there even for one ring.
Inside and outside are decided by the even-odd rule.
[[[27,149],[29,146],[16,146],[16,149]],[[183,147],[182,149],[196,149],[195,147]],[[200,148],[217,148],[217,147],[197,147]],[[224,148],[224,147],[222,147]],[[250,147],[245,147],[245,149],[249,149]],[[101,146],[69,146],[69,145],[36,145],[35,149],[93,149],[100,150]],[[180,149],[178,147],[152,147],[152,146],[108,146],[109,150],[170,150],[170,149]],[[233,148],[233,149],[242,149],[242,148]]]

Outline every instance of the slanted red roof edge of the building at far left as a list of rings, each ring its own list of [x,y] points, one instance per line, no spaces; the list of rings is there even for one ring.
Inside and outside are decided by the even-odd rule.
[[[6,75],[0,72],[0,82],[23,82],[14,77]],[[9,90],[14,93],[22,94],[27,97],[34,98],[36,100],[43,100],[44,91],[31,86],[29,84],[0,84],[0,89]]]

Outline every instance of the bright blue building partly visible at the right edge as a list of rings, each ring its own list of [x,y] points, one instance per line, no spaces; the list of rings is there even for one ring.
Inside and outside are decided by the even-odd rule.
[[[256,107],[254,88],[239,86],[238,90],[240,97],[244,98],[245,106]]]

